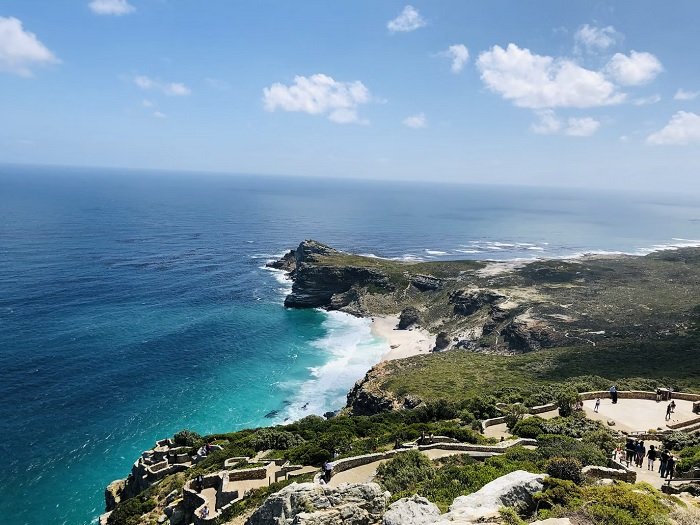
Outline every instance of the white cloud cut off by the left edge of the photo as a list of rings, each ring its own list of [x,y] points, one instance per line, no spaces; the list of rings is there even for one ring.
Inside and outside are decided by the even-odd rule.
[[[0,16],[0,71],[31,77],[33,66],[60,62],[34,33],[14,17]]]

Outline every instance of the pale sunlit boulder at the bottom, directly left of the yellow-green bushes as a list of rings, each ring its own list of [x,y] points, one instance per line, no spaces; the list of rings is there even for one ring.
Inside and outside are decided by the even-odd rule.
[[[544,488],[544,477],[544,474],[532,474],[524,470],[501,476],[473,494],[455,498],[449,512],[436,523],[484,520],[498,516],[501,507],[531,510],[534,508],[532,495]]]

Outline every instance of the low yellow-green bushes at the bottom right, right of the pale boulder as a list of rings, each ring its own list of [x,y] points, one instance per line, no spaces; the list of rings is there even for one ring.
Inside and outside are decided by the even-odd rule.
[[[577,485],[548,478],[545,490],[535,495],[540,519],[577,517],[593,525],[670,524],[671,498],[646,483],[630,485]]]

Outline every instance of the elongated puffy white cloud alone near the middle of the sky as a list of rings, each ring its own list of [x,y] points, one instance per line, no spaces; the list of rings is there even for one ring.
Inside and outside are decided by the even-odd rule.
[[[287,86],[276,82],[263,89],[265,110],[300,111],[310,115],[326,115],[338,124],[366,123],[359,118],[357,108],[370,101],[365,85],[339,82],[324,74],[296,76]]]

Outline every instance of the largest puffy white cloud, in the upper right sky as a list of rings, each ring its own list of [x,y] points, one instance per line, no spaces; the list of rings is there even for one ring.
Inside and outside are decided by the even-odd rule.
[[[535,55],[508,44],[479,55],[481,79],[493,92],[516,106],[543,109],[617,104],[625,95],[601,73],[567,59]]]

